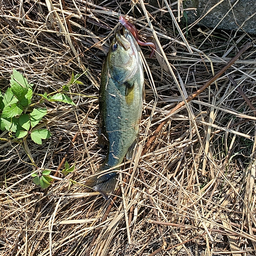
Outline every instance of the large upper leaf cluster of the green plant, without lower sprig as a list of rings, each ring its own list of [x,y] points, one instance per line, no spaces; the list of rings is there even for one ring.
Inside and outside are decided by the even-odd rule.
[[[62,87],[63,91],[69,90],[74,83],[79,83],[79,76],[72,74],[69,83]],[[42,144],[42,139],[48,139],[51,133],[48,129],[39,129],[37,124],[47,114],[47,108],[41,105],[46,101],[60,101],[75,105],[72,99],[65,93],[53,92],[50,94],[37,94],[41,99],[31,104],[33,98],[33,84],[18,71],[13,69],[10,79],[10,87],[2,94],[0,92],[0,129],[7,130],[11,138],[21,139],[30,135],[31,139]],[[13,135],[15,133],[15,136]],[[18,141],[17,141],[18,142]]]

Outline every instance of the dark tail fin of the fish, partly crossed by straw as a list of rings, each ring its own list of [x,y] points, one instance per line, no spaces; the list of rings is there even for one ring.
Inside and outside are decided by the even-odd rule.
[[[103,175],[99,174],[97,176],[89,178],[84,185],[92,188],[95,191],[99,191],[99,193],[102,194],[104,199],[108,200],[111,194],[114,193],[117,177],[118,177],[118,173],[116,172],[103,174]]]

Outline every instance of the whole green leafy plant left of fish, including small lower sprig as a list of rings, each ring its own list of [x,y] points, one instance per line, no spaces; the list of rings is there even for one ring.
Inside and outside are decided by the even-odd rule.
[[[60,90],[52,93],[34,94],[33,84],[28,83],[27,79],[18,71],[13,69],[10,87],[5,93],[0,91],[0,129],[8,131],[9,138],[0,138],[0,140],[12,140],[24,147],[32,164],[36,166],[33,157],[27,145],[27,138],[30,136],[32,141],[42,144],[43,139],[48,139],[51,133],[48,129],[41,129],[39,122],[48,113],[46,108],[47,101],[59,101],[75,105],[72,99],[66,94],[73,84],[81,84],[78,80],[79,74],[72,73],[70,81]],[[40,97],[38,100],[38,96]],[[32,103],[32,102],[35,103]],[[6,133],[4,133],[6,134]],[[63,175],[73,172],[74,165],[69,166],[65,163]],[[33,182],[42,188],[47,188],[53,181],[50,175],[51,170],[45,169],[42,172],[33,173]]]

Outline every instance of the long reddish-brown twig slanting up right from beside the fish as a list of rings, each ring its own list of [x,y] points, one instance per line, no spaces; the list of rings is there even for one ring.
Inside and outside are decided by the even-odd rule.
[[[199,94],[201,94],[212,82],[214,82],[217,78],[219,78],[228,68],[230,68],[234,62],[236,62],[236,60],[248,49],[250,48],[251,45],[249,43],[247,43],[237,54],[236,56],[234,56],[228,63],[227,65],[221,69],[214,77],[212,77],[211,79],[209,79],[199,90],[197,90],[195,93],[191,94],[190,96],[188,96],[186,98],[186,102],[190,102],[191,100],[193,100],[195,97],[197,97]],[[185,105],[184,101],[181,101],[178,105],[176,105],[176,107],[174,109],[172,109],[167,116],[172,115],[173,113],[175,113],[177,110],[179,110],[182,106]],[[147,151],[147,149],[150,147],[151,143],[156,139],[156,137],[158,136],[158,134],[160,133],[160,131],[162,130],[163,126],[168,122],[168,119],[162,121],[156,131],[154,132],[154,134],[151,136],[151,138],[147,141],[145,147],[143,148],[142,151],[142,155],[145,154],[145,152]]]

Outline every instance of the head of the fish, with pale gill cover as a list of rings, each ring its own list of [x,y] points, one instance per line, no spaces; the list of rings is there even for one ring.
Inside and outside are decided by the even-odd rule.
[[[119,83],[129,80],[141,63],[137,41],[129,30],[118,31],[108,54],[110,77]]]

